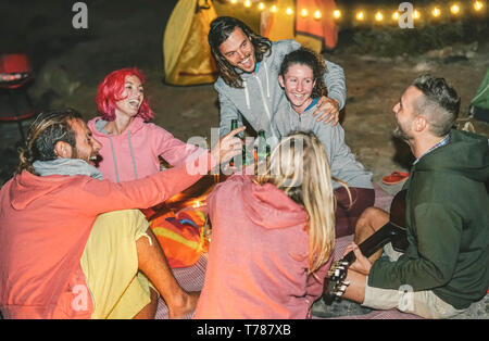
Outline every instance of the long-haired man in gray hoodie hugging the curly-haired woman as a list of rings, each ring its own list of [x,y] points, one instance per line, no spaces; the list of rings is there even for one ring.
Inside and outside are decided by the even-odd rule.
[[[214,88],[221,103],[221,136],[229,131],[231,119],[242,122],[243,116],[256,131],[265,130],[267,139],[275,137],[275,144],[278,138],[273,118],[285,96],[277,81],[278,70],[284,55],[300,45],[294,40],[272,42],[229,16],[215,18],[208,38],[220,72]],[[347,98],[344,73],[339,65],[325,62],[328,93],[322,97],[315,114],[318,121],[336,124]]]

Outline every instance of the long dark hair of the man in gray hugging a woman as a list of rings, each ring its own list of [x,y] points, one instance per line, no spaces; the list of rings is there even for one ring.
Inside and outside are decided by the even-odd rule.
[[[229,38],[236,28],[241,28],[243,34],[250,39],[254,48],[256,62],[261,62],[265,53],[267,55],[272,53],[272,41],[268,38],[255,34],[247,24],[231,16],[220,16],[211,23],[208,40],[220,75],[228,86],[242,88],[242,72],[233,66],[220,51],[221,45]]]

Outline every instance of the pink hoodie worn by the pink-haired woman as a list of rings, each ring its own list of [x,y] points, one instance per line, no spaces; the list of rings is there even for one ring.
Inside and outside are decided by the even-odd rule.
[[[145,123],[140,117],[135,117],[121,135],[104,132],[103,125],[101,117],[88,122],[93,137],[102,143],[99,171],[104,179],[113,182],[141,179],[159,172],[159,155],[171,165],[179,166],[198,149],[174,138],[160,126]]]

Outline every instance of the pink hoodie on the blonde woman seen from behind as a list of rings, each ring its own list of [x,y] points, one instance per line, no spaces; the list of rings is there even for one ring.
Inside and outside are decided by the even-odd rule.
[[[196,318],[306,318],[330,260],[308,276],[305,211],[275,186],[233,176],[208,198],[212,222]]]

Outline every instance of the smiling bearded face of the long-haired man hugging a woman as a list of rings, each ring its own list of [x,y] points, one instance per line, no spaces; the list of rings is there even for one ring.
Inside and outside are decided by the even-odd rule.
[[[255,68],[256,61],[253,43],[239,27],[236,27],[220,46],[220,52],[229,64],[243,72],[252,73]]]

